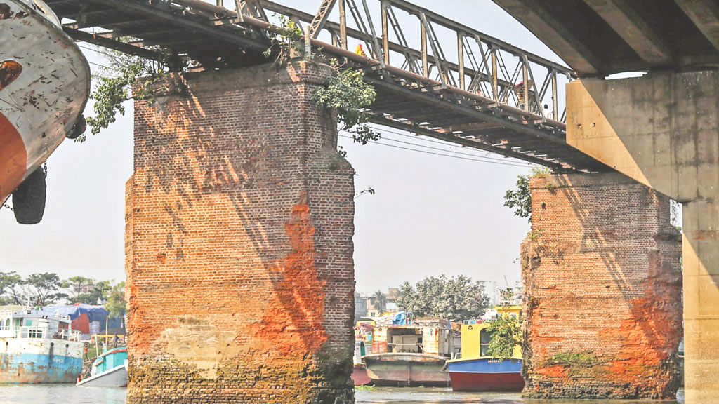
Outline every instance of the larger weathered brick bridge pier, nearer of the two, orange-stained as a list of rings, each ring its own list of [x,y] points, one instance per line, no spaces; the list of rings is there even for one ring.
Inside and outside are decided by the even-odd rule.
[[[135,104],[128,403],[351,403],[354,171],[293,63]]]

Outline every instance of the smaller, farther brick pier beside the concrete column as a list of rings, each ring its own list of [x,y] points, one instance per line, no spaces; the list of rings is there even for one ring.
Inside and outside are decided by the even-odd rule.
[[[674,398],[682,336],[669,200],[620,174],[531,180],[525,395]]]

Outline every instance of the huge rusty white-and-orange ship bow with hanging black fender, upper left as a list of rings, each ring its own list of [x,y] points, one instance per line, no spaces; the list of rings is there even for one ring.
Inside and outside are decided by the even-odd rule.
[[[0,206],[36,224],[45,210],[42,165],[65,137],[85,130],[90,67],[40,0],[0,1]]]

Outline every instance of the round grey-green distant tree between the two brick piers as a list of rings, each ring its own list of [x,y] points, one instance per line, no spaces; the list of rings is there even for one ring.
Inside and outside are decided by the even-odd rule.
[[[484,286],[464,275],[426,277],[415,288],[405,282],[396,301],[399,308],[414,316],[436,316],[454,321],[478,318],[489,305]]]

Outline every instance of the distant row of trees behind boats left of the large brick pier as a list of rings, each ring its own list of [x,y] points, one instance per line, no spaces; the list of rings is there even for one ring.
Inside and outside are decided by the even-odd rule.
[[[104,305],[111,317],[125,311],[125,283],[73,276],[62,279],[53,272],[23,277],[17,272],[0,272],[0,305],[51,306],[86,303]]]

